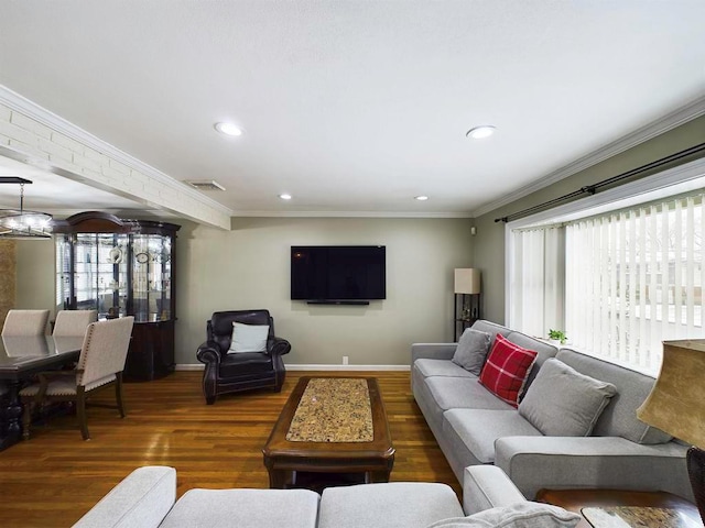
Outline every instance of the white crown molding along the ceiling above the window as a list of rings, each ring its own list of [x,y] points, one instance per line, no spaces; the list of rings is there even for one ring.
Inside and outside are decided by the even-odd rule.
[[[575,162],[547,174],[545,177],[540,178],[538,182],[533,184],[527,185],[518,189],[517,191],[506,196],[502,199],[491,201],[485,206],[481,206],[473,211],[473,217],[477,218],[482,215],[486,215],[490,211],[499,209],[500,207],[507,206],[512,201],[519,200],[524,196],[529,196],[536,190],[541,190],[556,182],[565,179],[574,174],[579,173],[581,170],[585,170],[586,168],[592,167],[593,165],[597,165],[605,160],[608,160],[617,154],[620,154],[633,146],[637,146],[646,141],[649,141],[653,138],[657,138],[670,130],[673,130],[682,124],[687,123],[701,116],[705,116],[705,96],[695,99],[694,101],[681,107],[674,112],[646,125],[641,129],[636,130],[634,132],[625,135],[622,139],[617,140],[609,145],[606,145],[597,151],[587,154]]]

